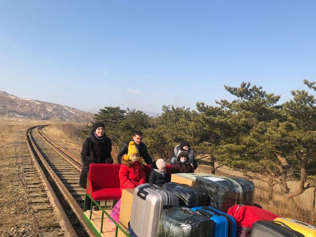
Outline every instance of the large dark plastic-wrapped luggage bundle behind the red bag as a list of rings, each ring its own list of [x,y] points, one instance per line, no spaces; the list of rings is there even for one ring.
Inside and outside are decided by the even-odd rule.
[[[197,177],[195,187],[206,192],[208,204],[222,212],[236,204],[253,206],[254,183],[240,178]]]

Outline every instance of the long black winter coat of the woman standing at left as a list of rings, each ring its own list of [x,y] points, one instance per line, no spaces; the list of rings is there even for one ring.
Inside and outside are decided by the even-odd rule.
[[[104,134],[103,139],[98,139],[94,135],[94,131],[90,132],[90,136],[82,143],[80,153],[82,161],[82,169],[80,173],[79,185],[86,189],[87,176],[90,163],[96,164],[113,164],[111,156],[112,141]]]

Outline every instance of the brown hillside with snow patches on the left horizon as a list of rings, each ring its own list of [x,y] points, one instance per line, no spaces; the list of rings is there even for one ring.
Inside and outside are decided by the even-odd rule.
[[[25,119],[61,121],[85,121],[91,113],[65,105],[40,100],[20,98],[5,91],[0,91],[0,115],[15,116]],[[92,116],[91,116],[92,118]]]

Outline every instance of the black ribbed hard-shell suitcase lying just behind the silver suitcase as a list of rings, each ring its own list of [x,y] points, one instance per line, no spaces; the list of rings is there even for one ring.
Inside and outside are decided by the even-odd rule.
[[[164,184],[162,188],[173,192],[179,198],[179,206],[181,207],[192,208],[207,205],[206,193],[189,185],[169,182]]]

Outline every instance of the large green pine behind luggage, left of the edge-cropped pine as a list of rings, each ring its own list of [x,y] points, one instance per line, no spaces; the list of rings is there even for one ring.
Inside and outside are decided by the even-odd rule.
[[[286,176],[277,159],[278,147],[275,143],[276,138],[281,136],[279,122],[286,120],[282,106],[276,105],[280,96],[267,94],[262,87],[251,87],[246,82],[238,88],[225,88],[237,99],[232,102],[216,101],[219,107],[197,104],[198,110],[203,113],[205,126],[216,138],[209,152],[220,164],[260,179],[269,185],[268,190],[272,190],[273,185],[283,182],[278,178]],[[270,191],[270,199],[272,196]]]

